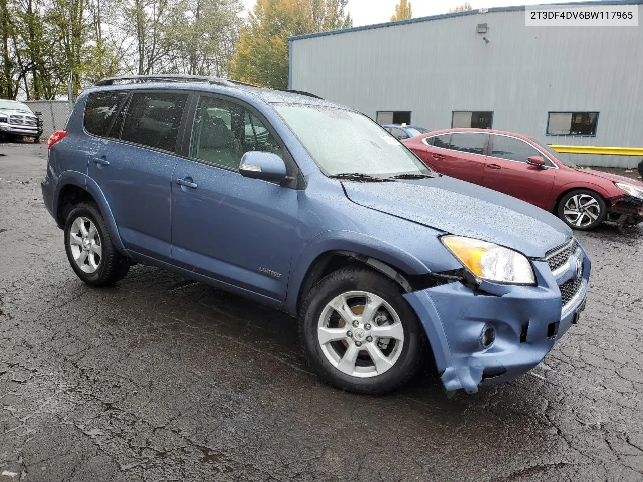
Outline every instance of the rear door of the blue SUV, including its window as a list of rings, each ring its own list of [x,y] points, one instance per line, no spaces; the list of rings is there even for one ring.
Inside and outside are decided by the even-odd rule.
[[[135,91],[89,159],[125,247],[170,260],[170,185],[185,91]]]

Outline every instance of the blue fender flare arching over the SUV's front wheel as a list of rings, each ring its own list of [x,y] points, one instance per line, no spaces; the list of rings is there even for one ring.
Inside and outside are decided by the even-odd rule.
[[[300,289],[312,263],[324,253],[350,251],[376,258],[406,274],[428,274],[431,270],[408,251],[385,241],[353,231],[324,231],[305,244],[302,253],[293,259],[294,270],[288,282],[285,309],[293,316],[298,311]]]

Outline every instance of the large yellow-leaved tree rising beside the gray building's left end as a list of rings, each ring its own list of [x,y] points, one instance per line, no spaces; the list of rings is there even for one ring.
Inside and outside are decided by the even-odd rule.
[[[231,60],[231,78],[285,89],[288,37],[352,26],[347,0],[257,0]]]

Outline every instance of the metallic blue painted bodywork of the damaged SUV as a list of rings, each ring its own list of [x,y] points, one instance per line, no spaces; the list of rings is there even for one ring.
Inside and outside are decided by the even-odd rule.
[[[180,150],[159,152],[87,134],[82,125],[86,95],[123,88],[203,92],[251,105],[282,139],[306,188],[243,177],[180,156]],[[69,120],[68,135],[50,150],[41,184],[46,207],[56,216],[62,189],[84,188],[123,253],[293,315],[311,266],[321,256],[341,251],[375,258],[415,280],[403,296],[424,325],[449,390],[475,391],[480,383],[511,379],[545,356],[570,323],[570,316],[560,320],[557,285],[572,274],[563,272],[555,280],[541,260],[572,238],[563,222],[525,202],[446,176],[387,183],[330,179],[278,116],[275,103],[340,107],[293,93],[203,83],[87,89]],[[185,125],[189,129],[192,119]],[[95,157],[109,165],[95,163]],[[62,227],[64,221],[57,222]],[[496,242],[531,256],[538,284],[483,281],[474,292],[460,281],[431,283],[430,274],[462,269],[440,242],[445,234]],[[583,263],[587,280],[590,262],[584,253]],[[548,339],[547,326],[559,320],[556,339]],[[527,340],[520,343],[527,321]],[[496,341],[482,349],[480,333],[487,323],[496,329]],[[483,377],[503,370],[502,376]]]

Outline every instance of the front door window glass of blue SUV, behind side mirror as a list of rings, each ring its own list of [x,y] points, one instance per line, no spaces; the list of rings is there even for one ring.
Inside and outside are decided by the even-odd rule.
[[[249,150],[274,152],[283,157],[273,134],[244,107],[201,97],[192,126],[190,157],[238,170],[241,156]]]

